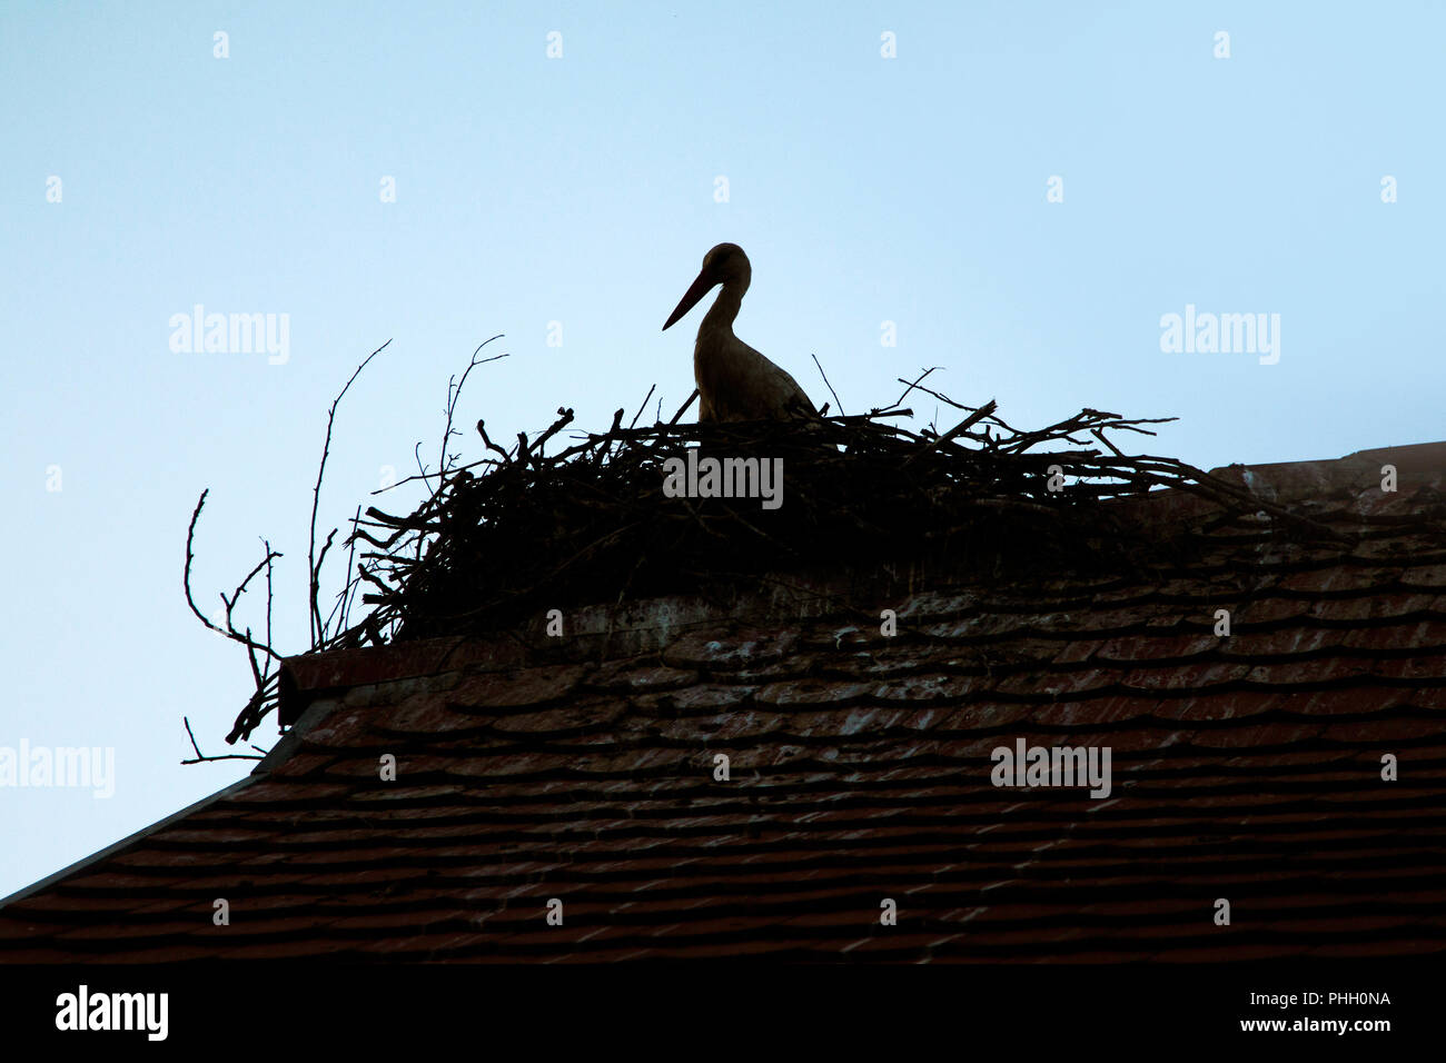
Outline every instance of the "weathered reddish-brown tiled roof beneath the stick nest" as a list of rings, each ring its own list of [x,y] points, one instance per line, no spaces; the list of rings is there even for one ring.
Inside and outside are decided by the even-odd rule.
[[[1246,519],[1150,577],[781,574],[292,658],[257,772],[10,898],[0,960],[1446,950],[1446,444],[1220,474],[1359,538]],[[1112,793],[992,785],[1019,739],[1108,746]]]

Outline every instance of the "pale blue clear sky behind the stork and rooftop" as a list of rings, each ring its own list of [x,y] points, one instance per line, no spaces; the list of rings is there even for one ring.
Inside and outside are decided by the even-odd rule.
[[[373,492],[435,467],[489,337],[463,427],[671,417],[703,309],[661,325],[724,240],[737,334],[846,412],[937,366],[1015,427],[1177,417],[1132,450],[1206,469],[1446,438],[1443,39],[1437,3],[0,0],[0,897],[253,767],[181,764],[250,693],[187,524],[210,489],[208,613],[283,554],[305,651],[327,408],[388,341],[322,535],[411,509]],[[1193,341],[1225,314],[1254,347]],[[65,748],[111,771],[6,781]]]

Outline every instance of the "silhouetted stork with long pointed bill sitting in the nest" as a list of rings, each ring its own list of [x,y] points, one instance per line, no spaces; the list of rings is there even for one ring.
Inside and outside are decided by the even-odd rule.
[[[714,285],[723,285],[703,315],[693,347],[693,379],[698,383],[698,421],[790,421],[818,411],[787,372],[733,336],[733,320],[753,268],[736,243],[720,243],[703,256],[703,270],[668,315],[664,330],[693,309]]]

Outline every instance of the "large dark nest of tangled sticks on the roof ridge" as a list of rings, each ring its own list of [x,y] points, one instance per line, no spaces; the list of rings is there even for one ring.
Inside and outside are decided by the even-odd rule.
[[[1265,509],[1283,532],[1333,535],[1180,461],[1125,456],[1108,438],[1152,434],[1144,425],[1171,418],[1084,409],[1019,431],[992,402],[970,408],[928,393],[967,417],[947,432],[917,434],[892,424],[911,415],[898,404],[810,424],[678,424],[685,404],[672,421],[648,427],[622,427],[619,411],[606,432],[577,434],[554,454],[547,448],[571,409],[510,448],[479,422],[487,458],[435,477],[414,513],[372,508],[359,525],[354,537],[376,548],[359,565],[372,587],[363,602],[376,606],[366,633],[497,629],[554,607],[704,592],[740,574],[876,568],[897,558],[950,555],[992,577],[1138,570],[1152,558],[1178,561],[1199,538],[1163,534],[1119,505],[1161,486],[1203,495],[1215,513]],[[667,463],[687,460],[688,448],[782,458],[782,505],[667,496]]]

